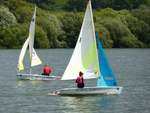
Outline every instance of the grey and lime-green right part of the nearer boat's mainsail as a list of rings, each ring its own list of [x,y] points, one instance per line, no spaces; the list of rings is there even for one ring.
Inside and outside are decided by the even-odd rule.
[[[95,28],[90,3],[85,12],[80,40],[83,67],[87,70],[92,70],[93,72],[99,72]]]

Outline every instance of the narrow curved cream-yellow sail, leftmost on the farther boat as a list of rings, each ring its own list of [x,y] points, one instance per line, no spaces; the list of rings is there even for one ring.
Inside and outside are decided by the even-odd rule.
[[[23,44],[20,55],[19,55],[19,60],[18,60],[18,70],[19,71],[24,70],[23,60],[24,60],[24,56],[25,56],[28,44],[29,44],[29,38],[27,38],[27,40]]]

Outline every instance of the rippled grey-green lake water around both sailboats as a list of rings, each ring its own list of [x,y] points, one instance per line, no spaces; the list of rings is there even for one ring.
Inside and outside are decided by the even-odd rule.
[[[43,63],[54,68],[54,75],[61,75],[72,51],[47,49],[37,53]],[[75,87],[74,81],[17,80],[19,52],[0,50],[0,113],[150,113],[150,49],[107,49],[123,92],[118,96],[88,97],[48,96],[53,90]],[[37,66],[33,72],[41,70],[42,66]],[[94,86],[95,82],[88,80],[86,86]]]

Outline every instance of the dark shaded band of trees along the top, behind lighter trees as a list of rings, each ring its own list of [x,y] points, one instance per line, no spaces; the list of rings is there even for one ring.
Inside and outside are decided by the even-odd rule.
[[[83,11],[88,0],[26,0],[50,10]],[[91,0],[93,9],[112,8],[115,10],[135,9],[141,4],[150,5],[149,0]]]

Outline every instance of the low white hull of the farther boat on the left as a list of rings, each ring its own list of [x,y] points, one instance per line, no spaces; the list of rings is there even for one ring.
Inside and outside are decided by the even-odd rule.
[[[19,80],[57,80],[60,79],[60,76],[46,76],[38,74],[22,74],[19,73],[16,75]]]

